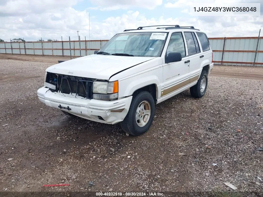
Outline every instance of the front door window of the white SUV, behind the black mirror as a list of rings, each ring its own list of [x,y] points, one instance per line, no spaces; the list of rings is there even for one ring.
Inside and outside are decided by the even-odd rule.
[[[182,58],[186,56],[184,39],[181,32],[172,33],[167,47],[166,55],[168,55],[171,52],[181,53]]]

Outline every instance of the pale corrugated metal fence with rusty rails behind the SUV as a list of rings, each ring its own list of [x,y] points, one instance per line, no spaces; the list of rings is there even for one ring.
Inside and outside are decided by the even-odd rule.
[[[213,62],[223,65],[263,66],[263,37],[209,38]],[[94,54],[108,40],[0,42],[2,54],[79,57]],[[79,46],[80,43],[80,46]]]

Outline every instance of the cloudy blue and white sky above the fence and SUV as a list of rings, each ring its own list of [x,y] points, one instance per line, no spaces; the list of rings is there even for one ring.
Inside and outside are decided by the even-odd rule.
[[[106,40],[125,29],[149,25],[194,26],[208,37],[258,36],[261,16],[192,16],[190,5],[231,0],[0,0],[0,38],[8,41]],[[90,15],[90,20],[89,20]],[[90,32],[90,34],[89,34]],[[263,32],[262,34],[263,35]]]

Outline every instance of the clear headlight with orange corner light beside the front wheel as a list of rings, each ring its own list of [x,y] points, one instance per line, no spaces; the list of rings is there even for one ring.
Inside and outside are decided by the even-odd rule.
[[[119,83],[115,82],[93,82],[93,93],[112,94],[119,92]]]

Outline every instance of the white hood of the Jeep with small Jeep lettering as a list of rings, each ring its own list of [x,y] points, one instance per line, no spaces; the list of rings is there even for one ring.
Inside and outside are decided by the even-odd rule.
[[[47,68],[46,71],[77,77],[109,80],[115,73],[150,59],[154,59],[154,57],[93,54],[55,64]]]

